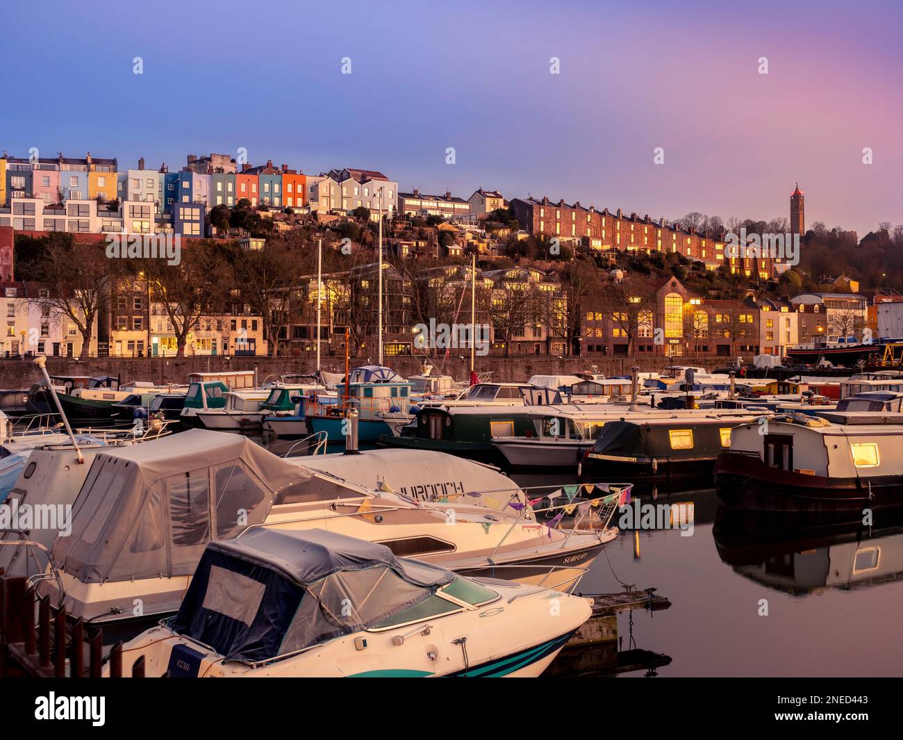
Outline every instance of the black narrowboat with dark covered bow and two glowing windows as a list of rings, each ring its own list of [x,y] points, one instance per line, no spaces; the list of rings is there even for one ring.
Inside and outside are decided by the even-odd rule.
[[[675,412],[671,417],[625,418],[602,427],[583,454],[578,474],[647,481],[704,478],[731,445],[731,429],[753,423],[760,414]]]

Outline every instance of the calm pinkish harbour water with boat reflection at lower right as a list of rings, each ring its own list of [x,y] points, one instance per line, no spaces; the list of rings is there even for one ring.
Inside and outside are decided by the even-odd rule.
[[[293,443],[270,445],[277,454]],[[339,452],[337,447],[334,452]],[[565,475],[518,474],[522,485],[576,482]],[[721,510],[712,490],[640,493],[643,502],[692,501],[694,531],[624,532],[584,576],[584,593],[614,593],[620,581],[654,586],[670,609],[617,617],[627,651],[671,660],[661,676],[903,675],[903,515],[878,512],[875,526],[843,520],[750,517]],[[768,615],[760,616],[763,600]],[[613,624],[610,625],[613,629]],[[611,643],[613,644],[613,643]],[[600,669],[612,656],[582,657]],[[573,660],[563,654],[556,661]],[[565,666],[567,672],[568,666]],[[606,672],[600,670],[600,673]],[[623,675],[643,676],[645,670]]]

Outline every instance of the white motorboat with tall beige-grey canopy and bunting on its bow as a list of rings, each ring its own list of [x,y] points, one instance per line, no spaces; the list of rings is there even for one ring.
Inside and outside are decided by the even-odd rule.
[[[431,454],[421,453],[424,461]],[[487,482],[487,470],[474,482]],[[73,618],[128,623],[172,613],[207,543],[258,524],[330,529],[464,574],[560,590],[573,588],[617,535],[611,507],[582,511],[571,527],[560,518],[540,522],[524,492],[505,476],[494,480],[492,492],[463,481],[421,500],[385,479],[368,488],[304,458],[276,457],[245,436],[194,429],[95,454],[78,495],[66,501],[70,535],[44,546],[49,566],[32,569],[44,561],[28,557],[31,539],[0,549],[13,551],[7,558],[21,554],[39,591]],[[42,489],[33,493],[31,502],[42,503]]]

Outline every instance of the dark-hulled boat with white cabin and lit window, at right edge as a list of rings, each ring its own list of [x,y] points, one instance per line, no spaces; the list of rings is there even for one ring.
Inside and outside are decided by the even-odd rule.
[[[873,391],[814,415],[780,414],[738,426],[715,466],[721,501],[765,511],[903,504],[901,399]]]

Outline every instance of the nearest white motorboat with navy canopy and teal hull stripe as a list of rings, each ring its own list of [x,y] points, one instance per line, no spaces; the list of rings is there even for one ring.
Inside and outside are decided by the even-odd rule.
[[[128,642],[146,675],[535,677],[591,615],[323,529],[211,542],[178,614]]]

